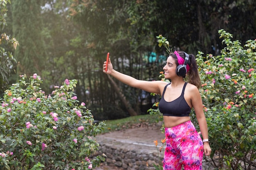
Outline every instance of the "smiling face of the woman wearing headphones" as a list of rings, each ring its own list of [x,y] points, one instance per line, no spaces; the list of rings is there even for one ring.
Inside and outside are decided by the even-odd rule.
[[[177,68],[177,65],[176,65],[174,58],[169,56],[166,60],[166,65],[163,67],[164,77],[166,79],[171,79],[171,77],[177,76],[176,68]]]

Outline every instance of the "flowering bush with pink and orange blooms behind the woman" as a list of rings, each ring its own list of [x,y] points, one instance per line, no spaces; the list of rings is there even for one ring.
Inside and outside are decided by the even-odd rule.
[[[256,40],[248,40],[244,49],[240,42],[231,41],[230,33],[219,33],[227,45],[221,55],[204,57],[198,51],[196,57],[212,149],[211,157],[204,159],[218,170],[251,170],[256,168]],[[159,47],[168,45],[162,35],[157,38]],[[165,81],[162,74],[159,77]],[[148,111],[162,119],[159,109]],[[195,114],[191,118],[199,130]]]

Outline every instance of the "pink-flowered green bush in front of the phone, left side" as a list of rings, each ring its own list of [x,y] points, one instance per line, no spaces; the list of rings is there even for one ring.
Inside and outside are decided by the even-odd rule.
[[[92,137],[105,123],[93,124],[85,103],[78,104],[77,80],[66,79],[45,95],[40,76],[29,82],[26,75],[20,78],[0,105],[0,169],[88,170],[105,160],[105,155],[92,157],[99,147]]]

